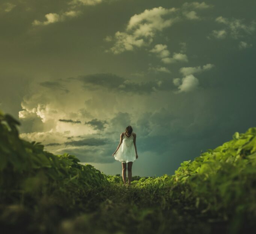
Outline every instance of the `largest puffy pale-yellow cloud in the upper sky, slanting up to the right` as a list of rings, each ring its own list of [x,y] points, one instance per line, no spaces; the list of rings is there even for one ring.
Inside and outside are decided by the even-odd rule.
[[[166,9],[160,6],[133,15],[127,23],[125,31],[115,33],[114,46],[107,51],[120,54],[124,51],[132,51],[136,47],[150,45],[157,32],[163,31],[164,28],[170,27],[180,20],[179,17],[164,18],[173,15],[176,10],[174,7]]]

